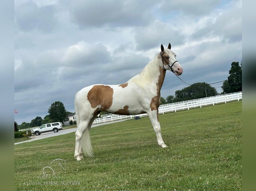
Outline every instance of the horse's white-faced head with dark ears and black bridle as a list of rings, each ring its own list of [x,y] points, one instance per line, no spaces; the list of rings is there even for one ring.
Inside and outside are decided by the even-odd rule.
[[[162,58],[162,67],[165,70],[169,70],[175,73],[177,76],[181,75],[183,72],[182,67],[176,60],[176,55],[171,51],[171,44],[169,43],[168,48],[164,49],[161,45],[160,56]]]

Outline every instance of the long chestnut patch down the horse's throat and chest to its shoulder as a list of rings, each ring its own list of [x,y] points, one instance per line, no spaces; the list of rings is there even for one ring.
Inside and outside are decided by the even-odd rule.
[[[151,102],[150,102],[151,111],[158,110],[158,107],[160,105],[160,98],[161,98],[160,90],[163,85],[166,70],[159,66],[159,72],[160,72],[160,75],[158,77],[158,82],[156,83],[156,96],[152,97]]]

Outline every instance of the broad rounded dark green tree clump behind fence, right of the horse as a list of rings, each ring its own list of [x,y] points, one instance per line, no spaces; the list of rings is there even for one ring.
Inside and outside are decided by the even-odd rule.
[[[217,90],[210,86],[209,84],[203,83],[195,83],[190,85],[182,90],[177,90],[175,92],[174,102],[178,101],[186,101],[190,99],[199,99],[203,97],[210,97],[217,95]]]

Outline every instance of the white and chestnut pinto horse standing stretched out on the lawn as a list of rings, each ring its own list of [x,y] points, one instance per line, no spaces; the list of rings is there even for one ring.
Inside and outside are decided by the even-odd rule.
[[[161,44],[161,52],[156,53],[141,73],[126,83],[95,84],[77,92],[74,102],[77,117],[75,159],[77,161],[83,159],[83,151],[85,155],[93,156],[89,131],[101,111],[119,115],[147,113],[156,133],[157,144],[163,148],[167,147],[162,139],[158,118],[160,90],[166,70],[177,76],[183,72],[175,53],[171,51],[170,43],[167,48]]]

